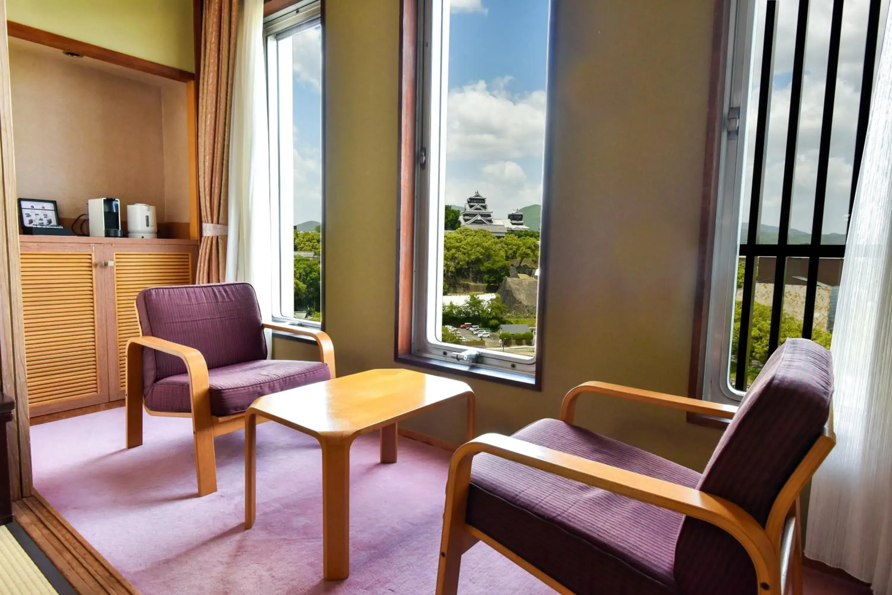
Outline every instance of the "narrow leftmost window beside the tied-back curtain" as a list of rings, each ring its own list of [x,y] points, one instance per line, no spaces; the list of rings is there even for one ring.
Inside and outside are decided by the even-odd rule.
[[[264,22],[270,196],[279,291],[274,318],[318,326],[322,310],[322,24],[319,3]]]

